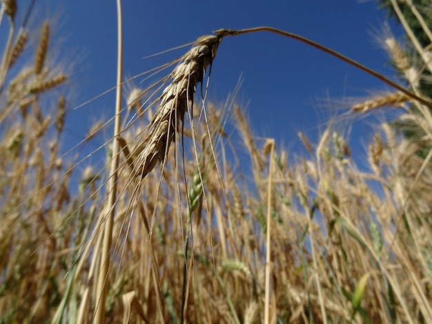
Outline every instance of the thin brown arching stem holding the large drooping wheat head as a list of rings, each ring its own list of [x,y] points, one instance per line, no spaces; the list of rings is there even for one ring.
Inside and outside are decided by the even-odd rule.
[[[272,32],[273,34],[278,34],[283,37],[288,37],[291,39],[295,39],[297,41],[301,41],[302,43],[306,43],[307,45],[311,45],[314,48],[317,48],[318,50],[321,50],[322,52],[326,52],[327,54],[330,54],[333,57],[336,57],[337,59],[340,59],[341,61],[344,61],[350,65],[353,65],[355,68],[358,68],[371,76],[375,77],[376,79],[379,79],[380,81],[390,85],[392,88],[395,88],[399,90],[400,92],[406,94],[408,97],[419,101],[420,103],[423,103],[424,105],[428,106],[430,109],[432,109],[432,103],[431,101],[427,101],[426,99],[422,99],[418,97],[417,95],[413,94],[412,92],[409,92],[405,88],[403,88],[401,85],[398,85],[397,83],[394,83],[390,79],[387,79],[386,77],[382,76],[382,74],[375,72],[374,70],[371,70],[370,68],[366,68],[366,66],[357,63],[356,61],[353,61],[352,59],[349,59],[348,57],[336,52],[335,50],[331,50],[330,48],[326,48],[324,45],[320,45],[319,43],[315,43],[315,41],[311,41],[310,39],[306,39],[306,37],[302,37],[297,34],[293,34],[291,32],[285,32],[284,30],[279,30],[277,28],[272,27],[255,27],[255,28],[247,28],[243,30],[216,30],[215,34],[217,34],[219,37],[226,37],[226,36],[237,36],[242,34],[251,34],[253,32]]]

